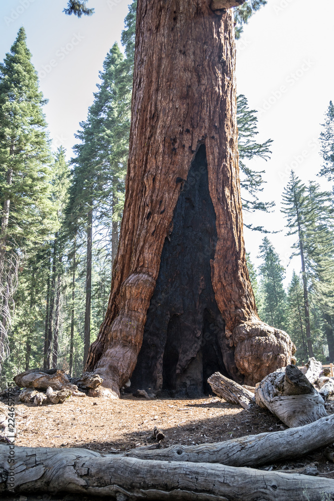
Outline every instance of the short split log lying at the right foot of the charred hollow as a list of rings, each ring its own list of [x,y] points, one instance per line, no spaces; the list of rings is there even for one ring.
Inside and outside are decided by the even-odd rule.
[[[212,391],[227,402],[239,404],[246,410],[249,410],[254,403],[254,395],[249,390],[223,376],[220,372],[212,374],[208,378],[208,383]]]

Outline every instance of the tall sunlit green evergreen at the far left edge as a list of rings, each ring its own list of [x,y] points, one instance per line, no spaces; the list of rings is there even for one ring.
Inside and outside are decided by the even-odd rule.
[[[42,111],[46,100],[39,91],[31,57],[21,28],[0,64],[0,368],[6,356],[18,260],[29,247],[42,242],[55,223],[49,197],[47,124]]]

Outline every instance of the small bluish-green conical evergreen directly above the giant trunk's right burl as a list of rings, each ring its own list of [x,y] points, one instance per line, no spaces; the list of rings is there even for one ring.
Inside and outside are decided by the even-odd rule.
[[[284,268],[267,237],[263,238],[262,245],[260,245],[259,257],[262,258],[262,264],[259,267],[262,275],[260,288],[263,296],[261,317],[270,325],[286,330]]]

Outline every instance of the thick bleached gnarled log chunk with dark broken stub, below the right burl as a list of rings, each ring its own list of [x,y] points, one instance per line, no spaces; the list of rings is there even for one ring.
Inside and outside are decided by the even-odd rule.
[[[294,365],[278,369],[262,379],[256,385],[255,401],[290,428],[327,415],[323,398]]]

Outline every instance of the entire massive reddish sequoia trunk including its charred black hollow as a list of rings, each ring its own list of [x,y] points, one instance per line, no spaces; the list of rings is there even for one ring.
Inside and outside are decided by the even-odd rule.
[[[124,216],[85,368],[110,396],[137,358],[133,386],[185,395],[215,371],[251,384],[290,363],[290,338],[259,320],[249,281],[233,13],[209,4],[138,2]]]

